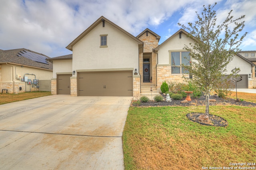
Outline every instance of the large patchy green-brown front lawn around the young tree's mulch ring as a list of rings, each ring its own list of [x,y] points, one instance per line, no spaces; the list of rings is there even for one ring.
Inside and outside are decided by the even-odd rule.
[[[256,107],[210,106],[227,127],[187,119],[205,107],[130,107],[123,133],[126,170],[199,170],[256,162]],[[253,166],[248,166],[253,167]]]

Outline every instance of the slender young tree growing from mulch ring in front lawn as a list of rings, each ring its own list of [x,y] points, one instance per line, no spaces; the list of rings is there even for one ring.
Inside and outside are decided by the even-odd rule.
[[[206,95],[205,114],[209,120],[209,97],[211,90],[223,81],[222,76],[226,72],[226,66],[233,59],[242,39],[246,36],[244,33],[240,38],[238,33],[244,28],[245,16],[233,19],[232,10],[228,13],[226,19],[216,26],[216,11],[214,5],[204,7],[202,14],[197,14],[198,20],[194,23],[188,23],[188,26],[178,23],[183,29],[187,29],[188,37],[194,40],[194,43],[185,45],[184,49],[190,52],[192,62],[190,66],[184,66],[190,74],[193,75],[192,81],[203,88]]]

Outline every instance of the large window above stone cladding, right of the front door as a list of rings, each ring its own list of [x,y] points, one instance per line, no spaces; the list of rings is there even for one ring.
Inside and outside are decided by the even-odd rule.
[[[189,74],[182,65],[190,66],[189,52],[171,52],[172,74]]]

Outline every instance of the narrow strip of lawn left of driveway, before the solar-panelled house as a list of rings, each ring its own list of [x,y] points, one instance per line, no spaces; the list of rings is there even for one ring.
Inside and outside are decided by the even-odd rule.
[[[43,96],[50,96],[51,92],[25,92],[18,94],[0,93],[0,104],[6,104],[11,102],[17,102],[21,100],[27,100],[32,98],[39,98]]]

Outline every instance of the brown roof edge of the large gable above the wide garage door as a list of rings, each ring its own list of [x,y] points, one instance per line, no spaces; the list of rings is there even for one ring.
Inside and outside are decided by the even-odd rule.
[[[143,42],[140,41],[138,38],[134,37],[132,34],[128,33],[127,31],[125,31],[124,29],[119,27],[118,25],[116,25],[113,22],[111,22],[110,20],[106,19],[104,16],[101,16],[90,27],[88,27],[83,33],[81,33],[76,39],[74,39],[66,48],[72,51],[73,50],[73,46],[76,43],[78,43],[78,41],[80,41],[86,34],[88,34],[90,31],[92,31],[92,29],[94,29],[98,24],[100,24],[103,21],[109,23],[110,25],[112,25],[113,27],[115,27],[116,29],[121,31],[122,33],[128,35],[129,37],[131,37],[132,39],[137,41],[139,45],[142,46]]]

